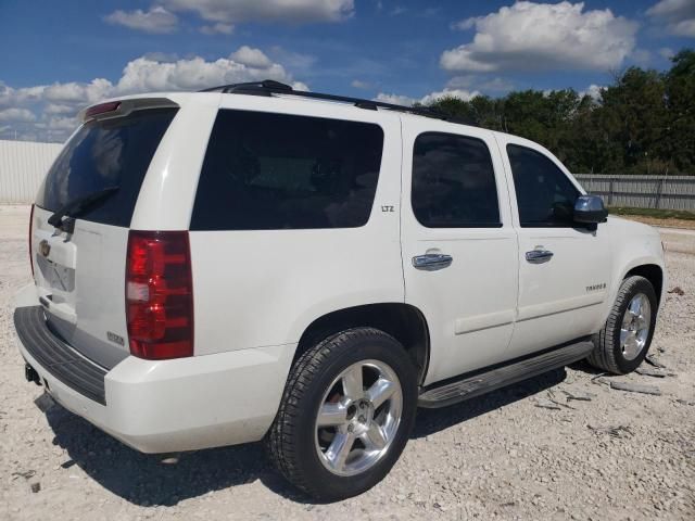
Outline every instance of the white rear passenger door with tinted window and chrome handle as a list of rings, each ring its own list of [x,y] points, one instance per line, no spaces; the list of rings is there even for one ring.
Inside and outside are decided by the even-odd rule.
[[[405,301],[430,330],[426,383],[504,358],[517,300],[517,239],[492,132],[403,118]]]

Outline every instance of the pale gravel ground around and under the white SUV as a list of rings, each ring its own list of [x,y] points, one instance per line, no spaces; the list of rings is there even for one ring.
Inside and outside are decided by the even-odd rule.
[[[27,218],[0,206],[0,519],[695,519],[693,236],[664,233],[669,289],[683,294],[668,294],[652,353],[674,374],[610,379],[660,396],[610,390],[578,364],[421,410],[382,483],[313,505],[257,444],[166,466],[40,398],[11,326],[12,295],[29,280]],[[593,397],[567,402],[566,391]]]

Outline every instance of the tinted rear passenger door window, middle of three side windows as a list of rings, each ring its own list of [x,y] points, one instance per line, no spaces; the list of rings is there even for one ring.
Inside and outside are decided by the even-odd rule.
[[[421,134],[413,152],[413,212],[428,228],[500,227],[488,145],[476,138]]]

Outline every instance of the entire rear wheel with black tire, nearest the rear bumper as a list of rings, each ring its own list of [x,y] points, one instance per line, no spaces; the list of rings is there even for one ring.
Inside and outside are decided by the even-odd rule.
[[[400,395],[389,386],[394,381]],[[365,390],[365,401],[358,399],[358,389]],[[389,473],[407,443],[416,408],[417,374],[403,346],[377,329],[345,330],[309,348],[290,369],[266,449],[285,478],[313,498],[344,499]],[[337,425],[319,427],[319,410],[321,423],[333,421],[327,414],[333,411]],[[341,452],[342,446],[352,450]]]

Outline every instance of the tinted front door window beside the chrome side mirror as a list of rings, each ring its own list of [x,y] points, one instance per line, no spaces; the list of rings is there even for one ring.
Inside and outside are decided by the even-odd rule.
[[[571,227],[579,190],[545,155],[507,144],[522,227]]]

